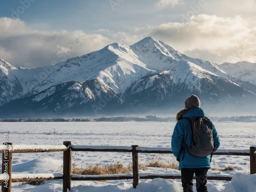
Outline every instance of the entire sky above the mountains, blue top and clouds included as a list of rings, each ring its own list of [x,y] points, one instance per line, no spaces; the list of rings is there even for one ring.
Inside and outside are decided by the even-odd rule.
[[[152,36],[195,58],[256,63],[255,0],[1,0],[0,58],[53,65]]]

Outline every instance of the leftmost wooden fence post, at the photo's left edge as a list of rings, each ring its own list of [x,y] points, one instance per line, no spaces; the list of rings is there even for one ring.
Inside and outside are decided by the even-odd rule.
[[[3,192],[11,192],[12,190],[12,148],[9,151],[9,146],[12,143],[4,143],[5,150],[2,157],[2,174],[8,174],[9,180],[7,181],[8,177],[6,176],[5,182],[2,183],[2,191]]]

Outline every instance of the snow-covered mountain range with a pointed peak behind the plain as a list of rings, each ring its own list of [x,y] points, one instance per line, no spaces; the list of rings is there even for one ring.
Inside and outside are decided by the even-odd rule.
[[[247,110],[256,98],[255,66],[190,58],[151,37],[34,69],[0,60],[0,117],[175,111],[190,94],[205,107]]]

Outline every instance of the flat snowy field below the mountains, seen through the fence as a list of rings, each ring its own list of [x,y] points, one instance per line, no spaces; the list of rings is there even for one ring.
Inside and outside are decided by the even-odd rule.
[[[221,150],[249,150],[256,145],[256,123],[214,122],[221,140]],[[59,145],[72,141],[77,145],[109,145],[143,147],[170,147],[170,139],[176,122],[0,122],[0,131],[8,133],[13,144]],[[63,152],[15,153],[13,173],[62,173]],[[139,154],[139,162],[178,162],[172,154]],[[132,162],[131,153],[73,152],[72,162],[77,167],[87,164]],[[209,192],[256,191],[256,175],[250,173],[249,156],[212,157],[212,169],[208,175],[231,175],[232,181],[208,180]],[[219,169],[232,166],[234,170]],[[214,170],[213,170],[214,169]],[[168,168],[147,167],[140,173],[180,173]],[[194,187],[196,186],[194,182]],[[196,189],[194,188],[196,191]],[[62,191],[62,180],[45,181],[41,185],[13,183],[12,191]],[[182,191],[179,179],[141,180],[136,189],[132,180],[72,181],[71,191]]]

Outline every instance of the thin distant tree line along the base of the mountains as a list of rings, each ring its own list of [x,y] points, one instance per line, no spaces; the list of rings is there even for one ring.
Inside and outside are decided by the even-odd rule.
[[[232,117],[209,117],[212,121],[240,121],[240,122],[256,122],[256,116],[232,116]],[[156,117],[155,115],[148,115],[145,117],[91,117],[91,118],[29,118],[29,119],[0,119],[0,122],[88,122],[88,121],[109,121],[109,122],[123,122],[123,121],[158,121],[168,122],[176,121],[175,117]]]

